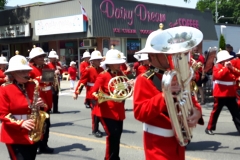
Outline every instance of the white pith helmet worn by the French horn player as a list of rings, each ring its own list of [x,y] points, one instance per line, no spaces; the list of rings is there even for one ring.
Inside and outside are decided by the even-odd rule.
[[[106,53],[106,59],[104,61],[104,64],[122,64],[125,63],[126,60],[121,57],[121,52],[117,49],[114,49],[113,46],[112,49],[108,50]]]

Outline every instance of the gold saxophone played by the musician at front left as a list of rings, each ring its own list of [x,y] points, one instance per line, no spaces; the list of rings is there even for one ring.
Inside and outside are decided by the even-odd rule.
[[[31,114],[28,116],[28,119],[32,119],[35,122],[35,127],[33,130],[29,131],[29,139],[33,142],[38,142],[44,133],[45,130],[45,120],[49,118],[49,114],[41,111],[38,106],[36,106],[37,100],[39,98],[39,82],[36,79],[32,79],[35,83],[34,93],[33,93],[33,102],[31,105]]]

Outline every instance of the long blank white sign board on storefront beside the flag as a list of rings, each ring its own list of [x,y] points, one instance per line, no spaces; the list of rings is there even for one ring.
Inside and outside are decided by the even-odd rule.
[[[76,32],[86,32],[82,14],[35,21],[38,36]]]

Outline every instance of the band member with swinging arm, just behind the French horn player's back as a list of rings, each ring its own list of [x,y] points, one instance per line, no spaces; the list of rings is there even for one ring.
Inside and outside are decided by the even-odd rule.
[[[95,110],[96,110],[96,98],[92,96],[92,94],[90,94],[90,90],[93,87],[97,76],[99,75],[99,73],[101,73],[103,71],[103,69],[100,67],[100,62],[102,61],[102,56],[101,53],[97,50],[93,51],[91,53],[91,58],[90,58],[90,66],[88,66],[85,70],[85,72],[83,72],[83,74],[80,77],[80,80],[78,82],[78,85],[75,89],[75,94],[73,96],[74,99],[77,99],[78,95],[81,94],[82,89],[84,86],[86,86],[86,99],[90,102],[90,106],[91,106],[91,117],[92,117],[92,134],[97,137],[100,138],[102,137],[102,132],[99,131],[99,117],[96,115]]]

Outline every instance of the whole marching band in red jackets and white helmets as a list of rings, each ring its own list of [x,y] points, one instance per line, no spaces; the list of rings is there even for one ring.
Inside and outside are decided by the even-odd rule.
[[[202,34],[192,27],[175,27],[168,29],[168,33],[175,29],[176,31],[180,29],[181,33],[184,33],[181,34],[183,36],[188,32],[191,32],[193,37],[194,34]],[[153,41],[161,39],[161,42],[165,43],[163,32],[164,30],[159,29],[148,36],[145,48],[134,55],[137,62],[132,69],[126,63],[124,54],[114,47],[105,57],[98,50],[92,53],[84,52],[79,71],[73,61],[70,62],[68,69],[64,69],[58,62],[56,51],[52,50],[47,55],[40,47],[35,46],[29,52],[28,61],[18,52],[9,62],[5,57],[0,57],[0,120],[2,122],[0,140],[6,144],[10,159],[34,160],[36,154],[54,153],[54,149],[48,146],[50,117],[51,114],[60,113],[58,111],[58,93],[61,90],[59,75],[65,71],[69,74],[70,89],[75,100],[82,93],[83,88],[86,88],[84,105],[91,109],[91,132],[95,137],[101,138],[103,136],[99,130],[101,124],[107,135],[105,160],[120,160],[125,99],[132,95],[134,117],[143,123],[145,159],[184,160],[185,145],[177,139],[176,128],[172,125],[176,122],[173,122],[169,113],[169,107],[173,106],[169,106],[166,101],[168,98],[173,102],[179,101],[176,96],[183,94],[183,88],[185,89],[186,86],[179,83],[178,78],[181,75],[173,76],[170,81],[172,97],[166,97],[165,88],[162,88],[161,83],[166,80],[165,73],[176,69],[171,54],[181,53],[182,56],[189,56],[189,63],[186,64],[189,69],[191,65],[199,64],[194,67],[191,79],[191,82],[195,82],[198,87],[197,96],[194,96],[194,90],[189,91],[192,102],[191,114],[183,119],[190,128],[197,124],[203,125],[201,105],[205,104],[204,84],[208,80],[204,70],[206,57],[199,53],[197,47],[202,41],[201,36],[194,45],[181,48],[181,52],[172,48],[189,39],[181,39],[181,41],[174,39],[167,50],[164,48],[156,51]],[[212,68],[214,105],[205,130],[209,135],[214,134],[223,106],[228,107],[240,133],[240,99],[236,101],[240,97],[240,52],[234,57],[228,48],[229,45],[227,50],[217,53],[217,60]],[[49,59],[48,63],[45,62],[46,56]],[[132,71],[136,78],[128,79]],[[75,87],[78,72],[81,76]],[[42,114],[36,113],[44,113],[46,119],[40,116]],[[41,122],[44,122],[44,128],[41,126],[38,128]],[[44,132],[40,133],[40,140],[34,141],[30,133],[36,131],[36,128]],[[190,143],[191,139],[187,140]]]

